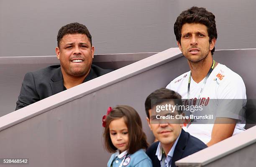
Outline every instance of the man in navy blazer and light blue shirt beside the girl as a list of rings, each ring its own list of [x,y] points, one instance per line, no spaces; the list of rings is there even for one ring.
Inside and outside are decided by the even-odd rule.
[[[148,126],[159,140],[146,151],[154,167],[175,167],[177,160],[207,147],[182,129],[182,119],[176,116],[184,116],[182,109],[171,111],[169,104],[182,106],[182,100],[178,93],[165,88],[154,91],[145,101]]]

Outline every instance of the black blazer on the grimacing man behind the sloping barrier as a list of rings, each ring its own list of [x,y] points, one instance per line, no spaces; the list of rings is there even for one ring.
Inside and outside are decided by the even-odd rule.
[[[83,83],[111,71],[113,70],[105,70],[92,64],[90,72]],[[24,77],[15,110],[21,109],[61,91],[64,91],[64,83],[60,65],[49,66],[38,71],[28,72]]]

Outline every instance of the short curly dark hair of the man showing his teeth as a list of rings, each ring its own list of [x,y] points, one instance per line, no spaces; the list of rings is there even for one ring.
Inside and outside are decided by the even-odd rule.
[[[64,35],[76,34],[76,33],[85,34],[87,38],[90,40],[90,43],[92,46],[92,35],[90,34],[87,27],[80,23],[70,23],[70,24],[64,25],[59,29],[59,33],[57,35],[58,47],[60,47],[60,42]]]

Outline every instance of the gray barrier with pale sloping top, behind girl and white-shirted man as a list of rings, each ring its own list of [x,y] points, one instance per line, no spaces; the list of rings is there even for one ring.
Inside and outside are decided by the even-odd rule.
[[[243,78],[248,98],[256,96],[256,78],[250,72],[255,53],[256,49],[245,49],[214,54]],[[37,167],[105,166],[110,154],[103,148],[102,116],[108,107],[133,106],[152,142],[143,106],[146,96],[188,70],[179,49],[170,48],[2,116],[0,157],[29,158],[28,166]]]

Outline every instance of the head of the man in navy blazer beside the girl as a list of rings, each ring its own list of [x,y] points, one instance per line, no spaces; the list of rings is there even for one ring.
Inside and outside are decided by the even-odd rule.
[[[175,109],[174,111],[156,111],[156,106],[166,106],[171,104],[172,106],[181,106],[182,100],[181,96],[175,91],[161,88],[152,92],[145,101],[145,110],[147,114],[148,126],[153,132],[156,139],[158,139],[161,144],[173,144],[177,137],[179,136],[182,128],[182,122],[177,122],[175,120],[175,115],[182,114],[182,110]],[[156,119],[159,116],[174,116],[173,120],[168,119]],[[154,121],[156,120],[156,121]]]

